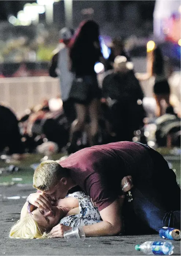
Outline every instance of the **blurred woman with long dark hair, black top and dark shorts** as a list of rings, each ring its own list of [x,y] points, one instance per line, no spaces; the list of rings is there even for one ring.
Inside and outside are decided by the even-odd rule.
[[[81,137],[87,113],[90,118],[89,145],[97,144],[101,92],[94,66],[97,61],[103,61],[103,56],[99,42],[99,26],[96,22],[81,22],[70,42],[70,61],[76,76],[70,90],[70,98],[75,103],[77,119],[72,123],[68,152],[74,153],[78,150],[77,139]]]

